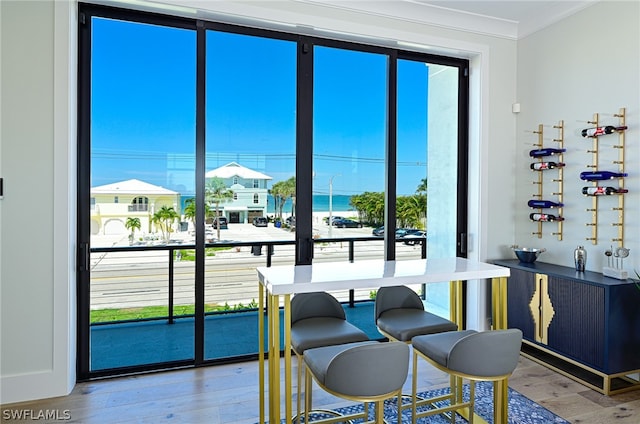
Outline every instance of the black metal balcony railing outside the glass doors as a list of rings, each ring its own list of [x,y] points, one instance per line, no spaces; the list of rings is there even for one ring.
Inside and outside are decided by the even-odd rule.
[[[398,260],[426,258],[425,240],[413,246],[399,242]],[[400,247],[401,246],[401,247]],[[258,288],[259,266],[293,265],[295,242],[250,241],[205,244],[205,304],[208,314],[253,309]],[[155,246],[96,247],[91,249],[91,309],[96,314],[92,325],[192,316],[195,304],[195,262],[190,254],[193,244]],[[379,237],[320,238],[314,240],[314,262],[380,259],[384,256]],[[334,295],[353,306],[369,299],[369,291],[349,290]],[[139,314],[150,306],[158,311],[151,316]],[[166,312],[163,311],[166,308]],[[187,312],[180,312],[184,308]],[[130,311],[123,315],[122,311]],[[104,315],[113,311],[114,319]],[[97,317],[103,312],[102,317]]]

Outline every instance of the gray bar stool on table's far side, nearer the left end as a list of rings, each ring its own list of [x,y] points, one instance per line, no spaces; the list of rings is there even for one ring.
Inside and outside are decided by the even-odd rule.
[[[291,348],[298,360],[297,411],[301,422],[303,357],[307,349],[368,341],[367,334],[347,321],[338,300],[325,292],[299,293],[291,299]],[[308,396],[311,396],[309,393]]]

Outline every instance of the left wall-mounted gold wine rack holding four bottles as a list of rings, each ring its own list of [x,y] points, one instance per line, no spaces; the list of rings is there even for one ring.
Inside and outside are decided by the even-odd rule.
[[[533,184],[537,186],[537,193],[533,193],[532,197],[534,199],[529,200],[528,205],[533,209],[537,209],[538,212],[532,213],[529,215],[529,218],[536,222],[538,225],[537,231],[534,231],[532,234],[537,235],[538,238],[542,238],[542,226],[545,222],[556,222],[557,231],[551,233],[551,235],[557,236],[558,240],[562,240],[562,223],[564,221],[563,210],[563,181],[564,181],[564,162],[563,162],[563,153],[565,152],[564,148],[564,121],[559,121],[557,125],[553,125],[553,128],[558,131],[558,135],[556,138],[553,138],[552,141],[556,143],[555,147],[545,148],[544,147],[544,125],[538,125],[538,129],[533,131],[534,134],[538,135],[538,140],[533,145],[536,149],[531,150],[529,152],[529,156],[534,159],[537,159],[537,162],[534,162],[530,165],[531,170],[535,171],[537,175],[537,179],[533,181]],[[557,162],[551,162],[549,157],[557,157]],[[555,200],[546,200],[544,199],[544,183],[545,183],[545,175],[549,172],[557,171],[557,176],[555,178],[546,179],[546,181],[551,183],[556,183],[557,188],[556,191],[551,192],[551,196],[555,197]],[[545,209],[556,209],[557,215],[547,214],[545,213]]]

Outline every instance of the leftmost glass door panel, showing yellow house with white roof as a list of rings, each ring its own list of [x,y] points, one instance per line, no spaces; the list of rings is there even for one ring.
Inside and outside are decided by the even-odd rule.
[[[90,370],[189,360],[196,33],[91,25]]]

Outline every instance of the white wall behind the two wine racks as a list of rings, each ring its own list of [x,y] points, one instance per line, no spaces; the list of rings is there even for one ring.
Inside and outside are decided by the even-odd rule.
[[[615,17],[613,19],[610,19]],[[515,138],[516,197],[507,205],[513,210],[509,220],[515,220],[516,233],[513,242],[521,246],[544,247],[548,251],[539,260],[559,265],[573,266],[573,250],[584,245],[587,250],[587,269],[601,272],[604,251],[617,235],[612,206],[617,206],[615,198],[599,199],[598,219],[599,240],[593,245],[586,238],[591,236],[591,215],[585,209],[591,207],[591,199],[582,195],[581,189],[590,186],[580,180],[580,172],[592,163],[591,139],[580,136],[580,130],[594,113],[600,122],[616,123],[611,116],[621,107],[626,108],[625,168],[629,177],[625,186],[625,246],[631,249],[630,260],[626,261],[630,272],[640,271],[640,3],[629,1],[607,1],[597,3],[553,26],[534,33],[518,42],[518,98],[522,112],[517,115],[517,136]],[[531,210],[527,200],[532,193],[533,173],[529,170],[532,162],[528,152],[532,134],[525,131],[537,129],[538,124],[565,123],[564,161],[564,215],[563,240],[549,233],[557,229],[555,224],[544,224],[542,239],[532,236],[537,226],[528,219]],[[552,128],[545,133],[555,136]],[[617,142],[617,135],[600,137],[600,164],[609,170],[617,170],[611,164],[611,146]],[[545,142],[551,145],[551,142]],[[617,151],[614,152],[617,158]],[[551,171],[548,171],[551,172]],[[616,185],[617,181],[612,181]],[[550,190],[543,186],[545,192]],[[549,196],[551,197],[551,196]],[[617,217],[615,217],[617,218]]]

